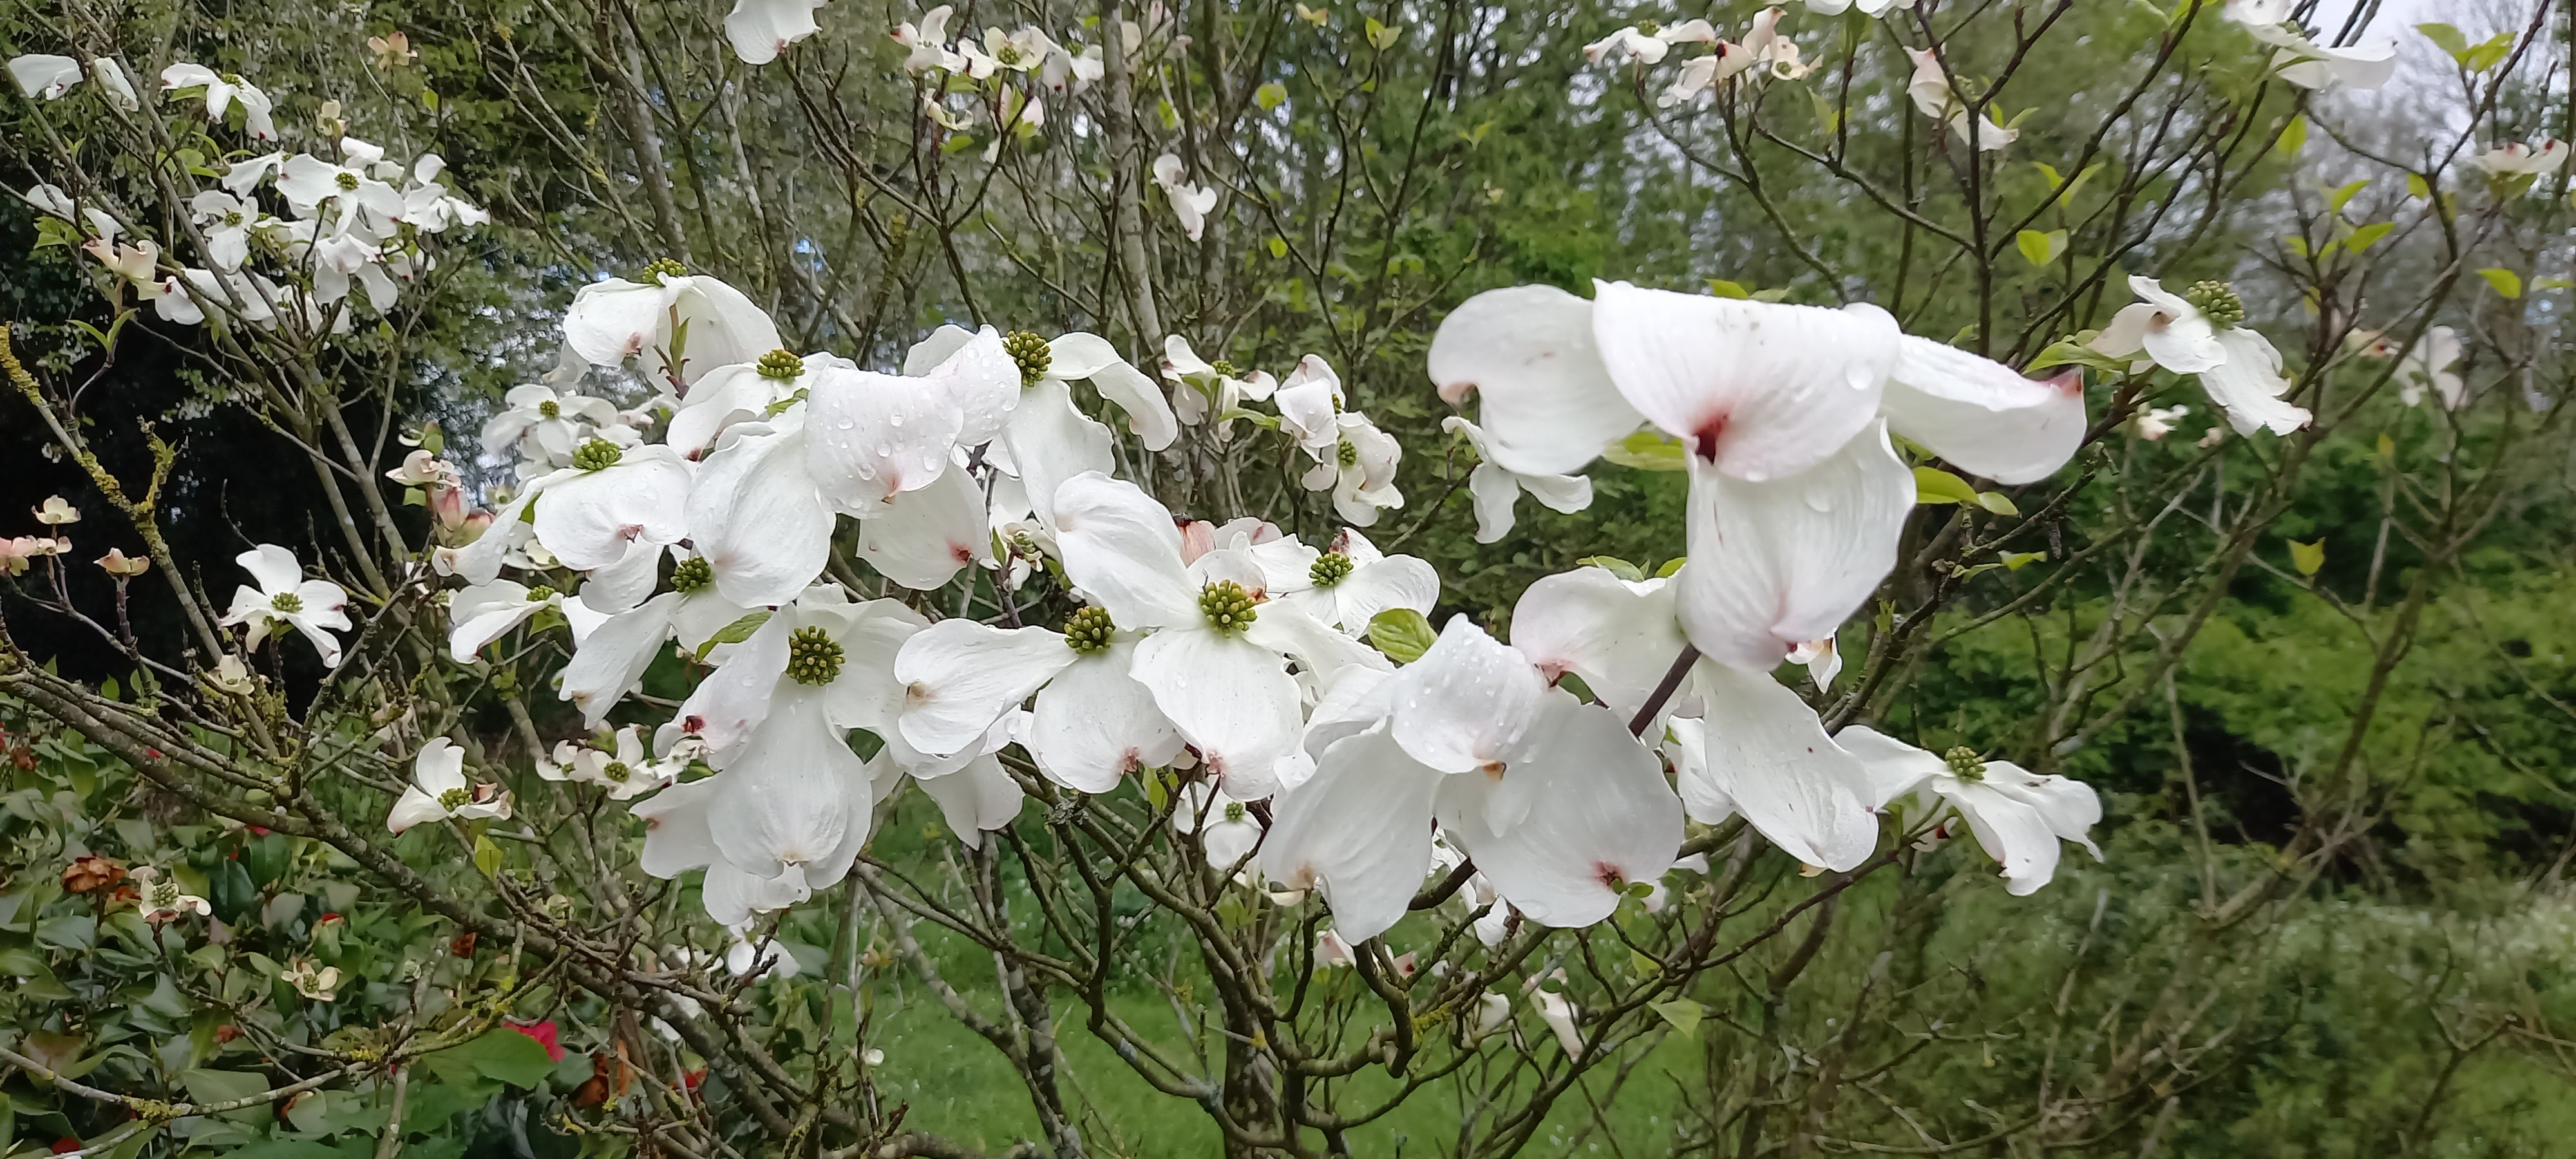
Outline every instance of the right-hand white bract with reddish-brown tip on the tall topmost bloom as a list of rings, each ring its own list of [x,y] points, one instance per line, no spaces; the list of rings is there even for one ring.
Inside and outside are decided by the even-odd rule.
[[[2032,381],[1927,337],[1899,343],[1888,428],[1999,484],[2048,479],[2084,446],[2084,371]]]

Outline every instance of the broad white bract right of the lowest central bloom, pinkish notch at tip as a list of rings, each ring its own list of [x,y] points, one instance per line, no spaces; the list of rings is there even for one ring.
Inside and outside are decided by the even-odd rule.
[[[1440,827],[1494,891],[1538,925],[1582,927],[1610,917],[1633,881],[1659,881],[1682,847],[1682,798],[1628,726],[1600,706],[1551,690],[1530,726],[1528,757],[1504,778],[1535,780],[1528,816],[1486,824],[1486,778],[1440,786]]]

